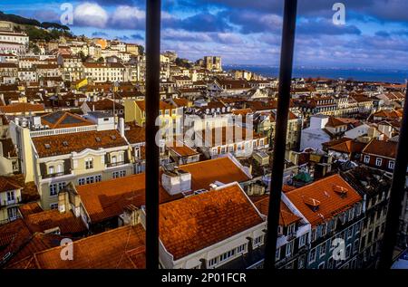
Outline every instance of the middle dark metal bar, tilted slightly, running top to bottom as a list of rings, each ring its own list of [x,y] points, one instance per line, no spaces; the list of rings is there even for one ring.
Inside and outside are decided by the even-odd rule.
[[[287,116],[290,104],[290,85],[295,45],[297,0],[286,0],[282,45],[279,68],[279,88],[277,101],[277,128],[272,163],[272,180],[270,184],[269,212],[267,216],[267,244],[265,249],[265,268],[275,268],[277,252],[277,227],[279,225],[280,197],[282,194],[285,153],[287,146]]]

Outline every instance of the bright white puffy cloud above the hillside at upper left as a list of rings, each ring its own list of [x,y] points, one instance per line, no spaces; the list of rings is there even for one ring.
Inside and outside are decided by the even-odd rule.
[[[73,11],[73,24],[76,26],[104,28],[108,20],[108,13],[102,6],[94,3],[85,2],[77,5]]]

